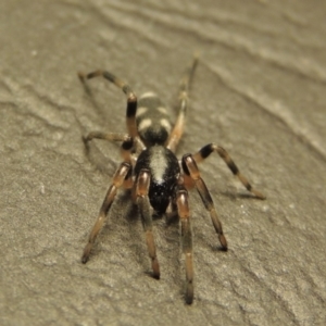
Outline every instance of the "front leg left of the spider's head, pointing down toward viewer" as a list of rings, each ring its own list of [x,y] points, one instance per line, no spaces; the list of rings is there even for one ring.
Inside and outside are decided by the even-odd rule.
[[[146,235],[148,253],[152,262],[153,277],[160,278],[160,265],[156,256],[155,242],[152,231],[151,205],[148,197],[150,186],[150,173],[148,170],[141,170],[136,185],[137,205],[140,211],[141,222]]]

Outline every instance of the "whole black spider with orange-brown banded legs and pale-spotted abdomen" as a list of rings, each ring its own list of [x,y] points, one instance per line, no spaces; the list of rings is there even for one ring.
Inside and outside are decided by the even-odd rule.
[[[112,184],[106,192],[99,216],[90,231],[82,262],[85,264],[89,260],[92,246],[103,227],[117,190],[121,188],[131,189],[133,201],[137,204],[142,221],[146,243],[151,260],[152,276],[156,279],[160,278],[160,264],[152,233],[152,213],[163,215],[166,212],[173,212],[179,217],[186,269],[185,301],[188,304],[193,301],[189,189],[196,188],[198,190],[206,211],[211,215],[222,249],[227,250],[227,241],[221,221],[212,197],[200,175],[198,164],[210,156],[211,153],[217,153],[247,190],[259,199],[265,199],[264,195],[251,187],[226,150],[218,145],[209,143],[195,154],[185,154],[180,161],[176,158],[175,151],[184,133],[188,110],[188,89],[197,64],[198,57],[195,55],[192,64],[187,68],[180,83],[179,111],[174,125],[171,124],[168,113],[155,93],[147,92],[137,100],[136,93],[128,84],[106,71],[96,71],[87,75],[78,74],[83,83],[86,83],[86,79],[102,76],[121,88],[127,97],[127,134],[93,131],[84,137],[86,145],[92,139],[121,141],[123,162],[113,175]]]

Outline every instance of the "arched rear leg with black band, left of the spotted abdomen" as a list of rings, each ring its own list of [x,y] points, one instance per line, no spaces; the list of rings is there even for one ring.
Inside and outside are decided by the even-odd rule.
[[[105,71],[96,71],[87,75],[83,73],[78,73],[78,76],[83,83],[85,83],[85,79],[102,76],[103,78],[113,83],[115,86],[117,86],[123,90],[123,92],[127,96],[127,109],[126,109],[127,130],[128,134],[134,139],[138,135],[137,125],[136,125],[137,97],[133,91],[131,87],[125,82],[123,82],[122,79],[117,78],[113,74]]]

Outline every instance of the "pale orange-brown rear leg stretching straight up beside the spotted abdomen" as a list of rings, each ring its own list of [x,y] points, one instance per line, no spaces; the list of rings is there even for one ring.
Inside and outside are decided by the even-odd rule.
[[[166,147],[175,152],[177,145],[184,134],[184,127],[186,122],[187,109],[188,109],[188,92],[189,85],[192,79],[196,66],[198,64],[198,57],[193,58],[192,64],[188,67],[186,75],[181,79],[180,90],[179,90],[179,113],[174,125],[174,128],[168,137]]]

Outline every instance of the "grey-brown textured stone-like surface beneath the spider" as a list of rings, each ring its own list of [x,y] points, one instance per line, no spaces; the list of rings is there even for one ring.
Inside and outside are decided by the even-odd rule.
[[[1,325],[325,325],[324,1],[1,1]],[[172,106],[201,52],[179,154],[215,141],[202,174],[227,253],[191,195],[196,300],[183,300],[177,225],[155,222],[160,281],[120,196],[87,265],[80,254],[120,161],[82,135],[124,130],[125,101],[76,72],[110,68]],[[131,214],[133,215],[133,214]],[[127,217],[129,216],[129,217]]]

